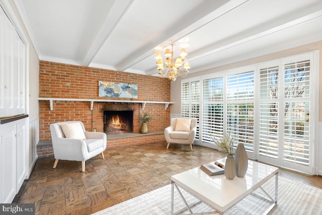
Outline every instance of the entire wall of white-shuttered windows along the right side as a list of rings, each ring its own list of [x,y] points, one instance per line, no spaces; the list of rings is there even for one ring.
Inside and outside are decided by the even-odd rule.
[[[198,138],[209,147],[226,132],[250,158],[312,173],[314,53],[183,80],[182,116],[200,117]]]

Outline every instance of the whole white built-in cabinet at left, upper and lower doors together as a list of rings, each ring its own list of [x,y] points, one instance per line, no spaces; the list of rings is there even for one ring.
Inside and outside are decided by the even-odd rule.
[[[27,169],[31,169],[27,162],[27,52],[15,26],[0,7],[0,117],[7,117],[0,120],[0,203],[12,202],[26,179]],[[13,115],[18,116],[9,117]]]

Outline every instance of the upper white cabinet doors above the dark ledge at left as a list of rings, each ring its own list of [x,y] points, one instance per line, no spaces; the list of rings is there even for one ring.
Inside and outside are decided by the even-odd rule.
[[[0,8],[0,117],[26,113],[26,46]]]

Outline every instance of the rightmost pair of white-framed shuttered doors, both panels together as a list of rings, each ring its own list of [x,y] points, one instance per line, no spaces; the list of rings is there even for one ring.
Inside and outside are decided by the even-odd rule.
[[[259,65],[258,160],[313,173],[312,59]]]

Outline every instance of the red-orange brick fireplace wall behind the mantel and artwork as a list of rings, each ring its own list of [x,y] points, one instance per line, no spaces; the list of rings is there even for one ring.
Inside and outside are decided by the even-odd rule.
[[[138,85],[137,99],[107,98],[98,96],[99,81],[129,83]],[[141,110],[140,103],[131,101],[170,101],[170,82],[159,77],[125,73],[122,71],[100,69],[87,66],[69,65],[48,61],[39,63],[39,97],[45,98],[74,98],[74,99],[108,99],[128,100],[129,102],[94,102],[93,111],[90,102],[54,101],[53,110],[49,108],[49,101],[39,101],[39,139],[50,140],[49,125],[54,122],[80,120],[86,130],[96,128],[103,131],[104,110],[133,110],[133,132],[139,132],[139,114],[147,111],[152,121],[148,122],[149,131],[164,130],[170,124],[170,108],[165,110],[164,104],[145,105]],[[153,135],[153,138],[155,136]],[[149,140],[150,139],[150,140]],[[155,142],[151,137],[132,137],[122,140],[109,140],[108,147],[137,145]],[[163,135],[155,139],[164,140]]]

